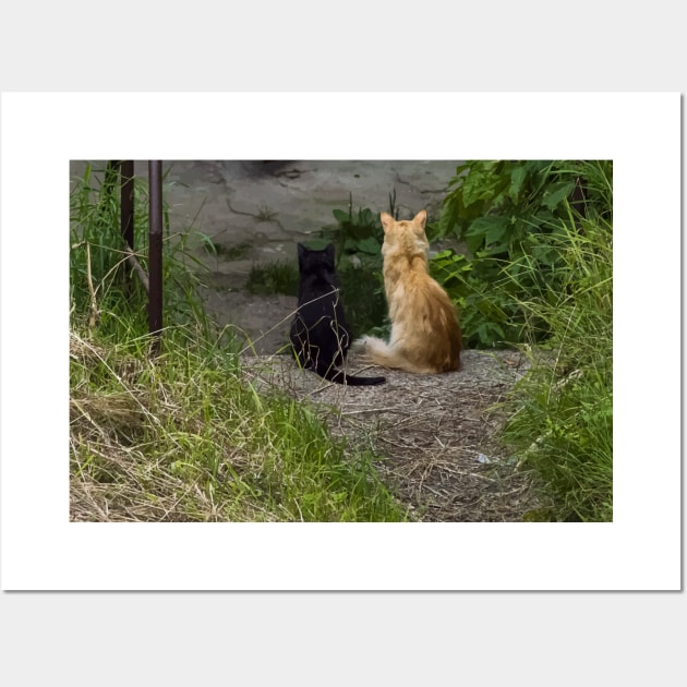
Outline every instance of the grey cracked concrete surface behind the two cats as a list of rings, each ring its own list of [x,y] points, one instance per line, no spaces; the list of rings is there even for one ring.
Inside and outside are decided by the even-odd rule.
[[[294,299],[252,297],[244,287],[255,264],[272,261],[298,265],[297,244],[337,222],[333,209],[389,209],[396,191],[399,218],[425,208],[438,216],[458,160],[179,160],[165,161],[164,201],[172,232],[191,230],[189,245],[209,268],[207,306],[221,324],[241,327],[258,339],[257,352],[274,352],[284,342]],[[100,168],[104,162],[94,162]],[[85,164],[72,161],[72,176]],[[134,172],[147,178],[147,162]],[[208,237],[214,256],[203,248]],[[278,324],[281,320],[285,323]],[[276,326],[275,326],[276,325]],[[275,327],[272,332],[272,327]],[[267,334],[266,334],[267,333]]]

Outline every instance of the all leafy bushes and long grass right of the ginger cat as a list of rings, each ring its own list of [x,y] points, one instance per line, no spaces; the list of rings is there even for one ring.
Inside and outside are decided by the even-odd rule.
[[[613,162],[469,161],[451,185],[434,236],[467,254],[438,254],[432,274],[468,347],[531,351],[502,434],[551,504],[525,519],[610,521]]]

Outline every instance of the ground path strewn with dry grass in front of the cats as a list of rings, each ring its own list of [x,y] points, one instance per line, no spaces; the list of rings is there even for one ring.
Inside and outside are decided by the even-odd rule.
[[[386,384],[329,384],[286,355],[246,358],[243,367],[258,387],[315,403],[333,434],[382,455],[384,481],[417,519],[520,521],[540,505],[530,479],[491,441],[499,417],[490,409],[525,372],[522,354],[463,351],[463,369],[442,375],[357,362],[351,354],[349,372],[384,374]]]

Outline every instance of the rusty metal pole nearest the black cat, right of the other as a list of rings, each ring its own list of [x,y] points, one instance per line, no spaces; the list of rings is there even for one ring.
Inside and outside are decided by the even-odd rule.
[[[148,160],[148,330],[155,336],[153,352],[159,352],[162,333],[162,162]]]

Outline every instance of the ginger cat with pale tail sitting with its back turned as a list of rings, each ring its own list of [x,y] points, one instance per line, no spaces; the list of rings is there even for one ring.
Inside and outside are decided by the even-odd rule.
[[[384,288],[391,320],[391,338],[364,336],[357,346],[378,365],[420,374],[460,370],[462,335],[456,308],[427,274],[424,233],[427,214],[396,221],[382,213]]]

